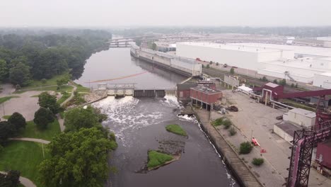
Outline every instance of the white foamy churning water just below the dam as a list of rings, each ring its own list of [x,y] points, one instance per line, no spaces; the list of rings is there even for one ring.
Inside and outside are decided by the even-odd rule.
[[[162,106],[161,108],[157,107],[159,102],[163,106],[178,107],[175,97],[168,97],[164,101],[152,101],[156,102],[156,106],[154,106],[156,110],[149,108],[149,105],[139,104],[139,102],[139,99],[132,96],[119,99],[109,96],[93,104],[93,106],[100,108],[102,113],[108,115],[108,119],[103,124],[115,132],[116,137],[121,140],[124,147],[132,145],[132,142],[128,141],[132,139],[126,138],[131,132],[162,122],[166,113],[162,110]]]

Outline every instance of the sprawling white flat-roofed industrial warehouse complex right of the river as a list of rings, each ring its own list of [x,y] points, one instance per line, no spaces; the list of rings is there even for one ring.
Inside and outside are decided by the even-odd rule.
[[[331,89],[331,48],[264,43],[178,42],[176,55]]]

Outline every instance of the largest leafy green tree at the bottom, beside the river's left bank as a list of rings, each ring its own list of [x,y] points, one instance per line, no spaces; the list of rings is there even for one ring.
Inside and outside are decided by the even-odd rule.
[[[82,128],[54,137],[50,159],[40,166],[45,186],[103,186],[108,177],[108,152],[117,147],[97,128]]]

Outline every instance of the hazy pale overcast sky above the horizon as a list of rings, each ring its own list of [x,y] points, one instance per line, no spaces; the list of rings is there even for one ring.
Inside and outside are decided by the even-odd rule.
[[[1,0],[0,26],[331,26],[331,0]]]

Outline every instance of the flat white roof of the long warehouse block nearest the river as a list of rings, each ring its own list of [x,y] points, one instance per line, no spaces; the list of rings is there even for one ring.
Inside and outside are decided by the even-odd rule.
[[[253,47],[242,44],[221,44],[221,43],[213,43],[213,42],[178,42],[177,45],[192,45],[192,46],[200,46],[200,47],[211,47],[211,48],[219,48],[224,50],[237,50],[244,52],[278,52],[279,49],[267,48],[267,47]]]

